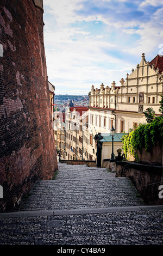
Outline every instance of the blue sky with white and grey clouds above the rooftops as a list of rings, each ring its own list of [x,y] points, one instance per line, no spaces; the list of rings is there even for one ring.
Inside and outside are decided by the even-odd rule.
[[[43,0],[48,80],[55,94],[120,86],[141,62],[163,54],[162,0]]]

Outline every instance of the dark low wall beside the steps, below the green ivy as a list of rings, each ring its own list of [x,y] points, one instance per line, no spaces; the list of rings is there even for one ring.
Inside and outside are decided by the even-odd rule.
[[[129,177],[146,204],[163,205],[163,198],[159,198],[159,186],[163,185],[162,166],[129,161],[116,164],[116,177]]]

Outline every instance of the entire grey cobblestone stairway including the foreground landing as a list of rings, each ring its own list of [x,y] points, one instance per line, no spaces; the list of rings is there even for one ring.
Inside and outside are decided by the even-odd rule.
[[[0,214],[0,230],[0,245],[163,245],[163,206],[146,206],[105,168],[59,164],[20,211]]]

